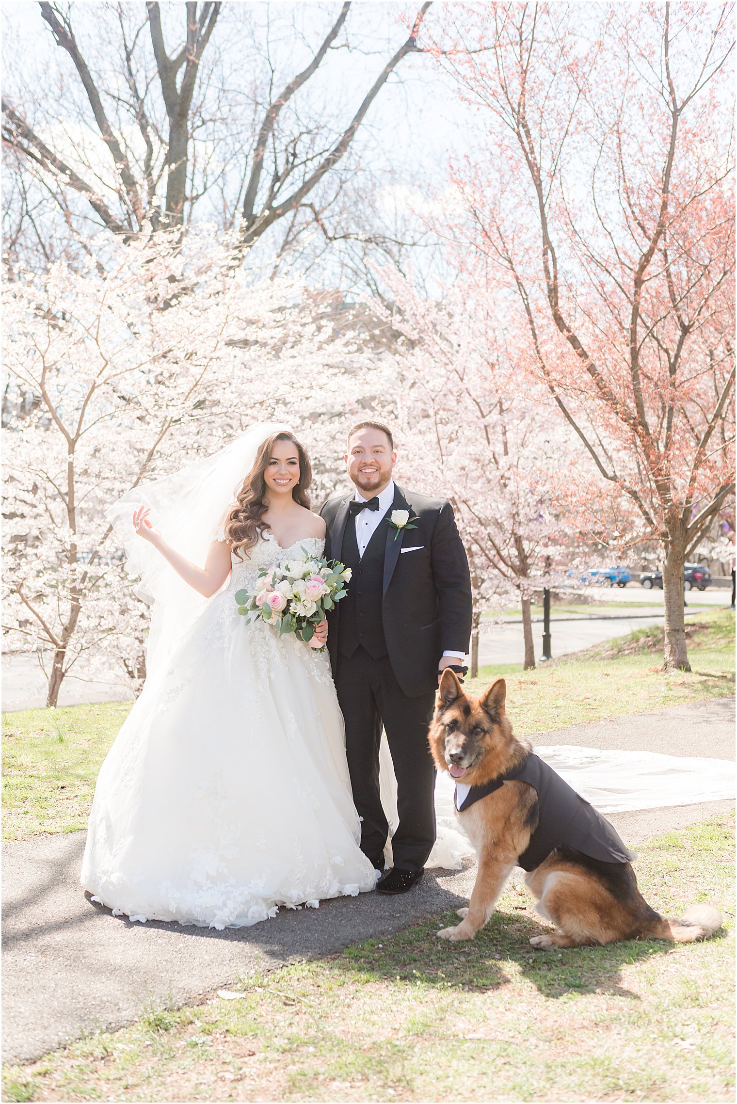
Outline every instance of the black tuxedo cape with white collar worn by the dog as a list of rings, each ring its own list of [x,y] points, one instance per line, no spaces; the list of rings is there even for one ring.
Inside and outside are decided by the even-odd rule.
[[[537,827],[517,858],[523,870],[535,870],[556,847],[574,848],[600,862],[634,860],[609,821],[537,755],[527,755],[524,763],[480,786],[457,782],[453,797],[457,811],[464,813],[512,781],[526,782],[537,793]]]

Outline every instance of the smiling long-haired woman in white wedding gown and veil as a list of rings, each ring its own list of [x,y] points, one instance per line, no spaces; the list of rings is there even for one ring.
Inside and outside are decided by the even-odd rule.
[[[254,426],[109,512],[153,605],[148,677],[100,769],[82,868],[115,914],[235,927],[374,888],[328,656],[245,624],[234,601],[261,567],[322,554],[310,482],[295,436]]]

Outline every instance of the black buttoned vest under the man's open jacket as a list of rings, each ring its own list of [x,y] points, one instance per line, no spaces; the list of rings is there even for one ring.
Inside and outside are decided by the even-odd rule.
[[[349,518],[343,534],[341,560],[353,572],[348,593],[340,603],[338,650],[352,656],[359,646],[378,659],[386,655],[382,602],[384,597],[384,550],[389,527],[382,518],[363,556],[359,555],[355,520]]]

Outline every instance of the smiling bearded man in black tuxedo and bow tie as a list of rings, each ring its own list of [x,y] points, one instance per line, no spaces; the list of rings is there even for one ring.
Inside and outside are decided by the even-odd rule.
[[[386,731],[397,779],[394,867],[380,893],[406,893],[423,877],[435,842],[435,767],[427,743],[438,672],[461,664],[471,635],[471,582],[449,502],[400,490],[396,453],[381,422],[348,437],[351,495],[329,499],[325,554],[353,574],[329,615],[328,649],[345,718],[361,850],[384,869],[388,824],[378,793],[378,746]]]

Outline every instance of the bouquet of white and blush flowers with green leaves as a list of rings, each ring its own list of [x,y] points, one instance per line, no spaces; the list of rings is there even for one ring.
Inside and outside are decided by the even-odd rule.
[[[302,551],[305,551],[302,549]],[[256,590],[238,591],[235,601],[238,613],[248,622],[259,617],[278,631],[279,636],[295,633],[310,644],[314,626],[325,613],[345,597],[345,584],[351,569],[338,560],[323,560],[305,554],[303,560],[292,560],[259,573]],[[314,643],[313,648],[321,645]]]

